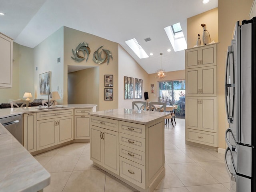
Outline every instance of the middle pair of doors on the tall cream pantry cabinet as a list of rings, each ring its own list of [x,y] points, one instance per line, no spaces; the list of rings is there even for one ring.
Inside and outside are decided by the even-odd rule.
[[[216,96],[216,74],[216,66],[186,69],[186,96]]]

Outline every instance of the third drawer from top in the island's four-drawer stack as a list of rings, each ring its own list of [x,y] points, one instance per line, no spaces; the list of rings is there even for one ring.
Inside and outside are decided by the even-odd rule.
[[[129,159],[131,161],[134,161],[138,164],[141,165],[146,165],[145,164],[145,152],[124,146],[124,145],[119,145],[119,156],[122,156],[126,159]]]

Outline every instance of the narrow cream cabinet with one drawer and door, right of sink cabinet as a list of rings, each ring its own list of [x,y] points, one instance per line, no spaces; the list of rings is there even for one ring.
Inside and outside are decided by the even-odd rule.
[[[74,139],[90,139],[90,124],[89,124],[89,112],[95,112],[94,108],[78,108],[74,109],[75,117],[75,135]]]

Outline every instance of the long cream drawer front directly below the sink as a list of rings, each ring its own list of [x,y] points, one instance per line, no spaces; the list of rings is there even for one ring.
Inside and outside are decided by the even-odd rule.
[[[73,115],[73,109],[45,111],[45,112],[37,113],[37,120],[45,120],[45,119],[66,117],[66,116],[72,116],[72,115]]]

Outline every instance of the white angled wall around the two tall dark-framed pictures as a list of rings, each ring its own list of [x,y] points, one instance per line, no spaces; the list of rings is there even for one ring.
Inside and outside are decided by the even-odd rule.
[[[142,99],[124,99],[124,76],[142,79]],[[144,92],[148,89],[148,73],[119,45],[118,46],[118,108],[132,108],[132,101],[146,101]]]

